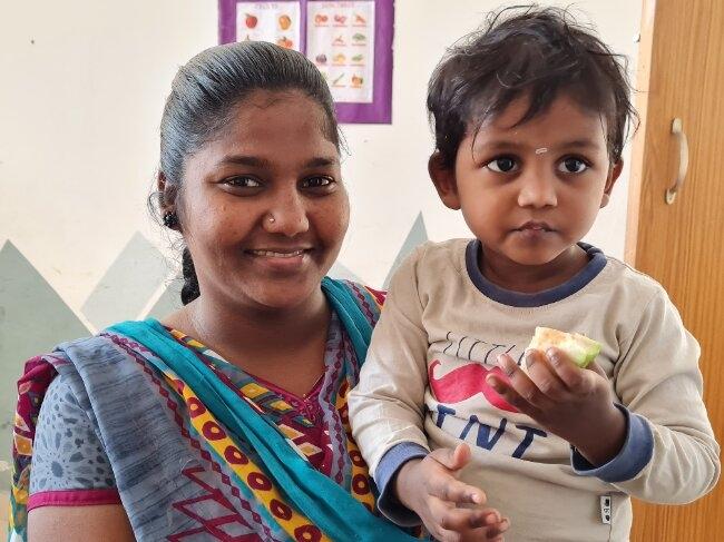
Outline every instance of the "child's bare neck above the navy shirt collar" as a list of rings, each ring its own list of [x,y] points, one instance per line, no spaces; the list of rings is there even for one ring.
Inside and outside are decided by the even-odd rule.
[[[496,286],[522,294],[536,294],[566,283],[586,267],[588,260],[588,255],[578,245],[573,245],[542,265],[521,265],[483,246],[478,267]]]

